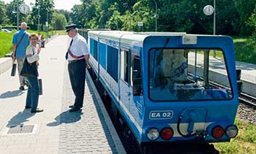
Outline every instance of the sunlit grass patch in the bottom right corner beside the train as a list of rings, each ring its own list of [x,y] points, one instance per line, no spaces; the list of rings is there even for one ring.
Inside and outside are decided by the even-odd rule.
[[[239,132],[230,142],[214,143],[219,153],[256,153],[256,126],[236,118]]]

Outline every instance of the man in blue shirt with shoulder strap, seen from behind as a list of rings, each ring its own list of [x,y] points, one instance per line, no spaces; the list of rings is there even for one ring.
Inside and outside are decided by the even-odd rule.
[[[20,90],[24,91],[26,85],[26,78],[20,76],[23,67],[24,58],[26,55],[26,47],[29,46],[29,33],[26,32],[26,23],[20,24],[20,31],[17,31],[12,38],[12,59],[17,59],[18,63],[18,76],[20,79]]]

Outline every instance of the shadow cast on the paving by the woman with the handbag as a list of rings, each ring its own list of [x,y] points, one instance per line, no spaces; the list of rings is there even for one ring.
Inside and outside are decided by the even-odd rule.
[[[12,117],[10,121],[8,121],[7,127],[17,126],[29,121],[28,119],[34,116],[35,113],[31,113],[30,109],[24,109],[23,112],[18,112],[17,115]]]

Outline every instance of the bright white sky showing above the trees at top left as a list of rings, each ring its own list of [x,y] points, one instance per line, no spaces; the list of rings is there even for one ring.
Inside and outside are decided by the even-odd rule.
[[[13,1],[13,0],[4,0],[5,3],[9,3],[10,1]],[[69,11],[75,4],[81,4],[80,0],[53,0],[53,1],[55,4],[55,9],[67,9]],[[25,0],[25,4],[28,4],[28,5],[34,2],[35,0]]]

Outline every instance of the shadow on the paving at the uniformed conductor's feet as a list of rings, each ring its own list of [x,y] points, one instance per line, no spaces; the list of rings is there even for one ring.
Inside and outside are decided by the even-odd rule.
[[[69,110],[62,112],[56,118],[54,118],[54,122],[48,123],[47,126],[54,127],[59,126],[61,123],[75,123],[81,119],[81,115],[83,112],[69,112]]]

